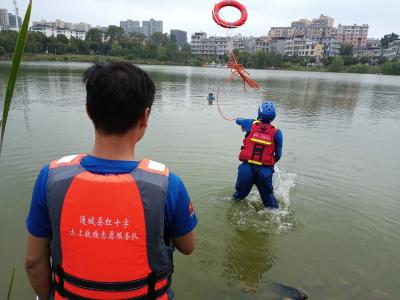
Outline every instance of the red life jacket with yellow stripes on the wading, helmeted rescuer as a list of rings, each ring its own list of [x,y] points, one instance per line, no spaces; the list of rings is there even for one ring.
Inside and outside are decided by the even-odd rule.
[[[275,165],[275,135],[278,129],[261,121],[254,121],[250,133],[243,140],[239,160],[258,166]]]

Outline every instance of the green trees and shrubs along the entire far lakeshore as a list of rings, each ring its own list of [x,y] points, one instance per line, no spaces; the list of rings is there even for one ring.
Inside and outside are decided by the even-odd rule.
[[[14,51],[17,33],[0,32],[0,57],[7,59]],[[282,56],[272,52],[238,52],[238,60],[246,68],[284,69],[293,71],[348,72],[359,74],[400,75],[400,62],[386,61],[383,57],[353,57],[351,46],[343,45],[340,56],[322,58]],[[106,34],[93,28],[86,40],[67,39],[63,35],[46,37],[42,33],[30,32],[26,44],[25,60],[96,62],[127,60],[137,64],[168,64],[202,66],[211,63],[207,57],[193,58],[190,46],[179,49],[174,36],[156,33],[147,39],[144,35],[126,35],[117,26],[110,26]],[[223,58],[227,62],[228,56]]]

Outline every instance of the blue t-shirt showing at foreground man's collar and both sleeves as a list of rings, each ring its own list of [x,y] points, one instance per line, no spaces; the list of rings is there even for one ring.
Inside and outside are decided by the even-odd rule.
[[[88,155],[81,160],[81,165],[95,174],[126,174],[131,173],[139,162],[107,160]],[[46,165],[36,180],[26,220],[28,231],[39,238],[49,238],[52,235],[47,208],[48,174],[49,165]],[[192,209],[189,194],[182,180],[174,173],[170,173],[165,201],[165,224],[172,237],[183,236],[196,227],[197,217]]]

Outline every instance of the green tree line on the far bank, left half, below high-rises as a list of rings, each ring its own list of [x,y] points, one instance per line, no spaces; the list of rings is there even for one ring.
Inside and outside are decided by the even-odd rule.
[[[12,56],[18,33],[0,32],[0,56]],[[55,55],[112,55],[127,59],[154,59],[176,63],[187,63],[191,59],[189,45],[178,49],[176,38],[164,33],[155,33],[150,38],[140,33],[125,33],[117,26],[109,26],[106,33],[97,28],[90,29],[85,40],[65,35],[46,37],[40,32],[29,32],[25,52]]]

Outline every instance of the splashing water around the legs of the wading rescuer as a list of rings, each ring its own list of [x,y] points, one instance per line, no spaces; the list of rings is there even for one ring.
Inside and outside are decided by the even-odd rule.
[[[274,194],[279,209],[268,209],[262,204],[257,188],[249,196],[234,203],[228,211],[228,220],[233,224],[251,227],[267,235],[285,234],[293,231],[298,223],[290,206],[290,191],[299,183],[297,174],[281,171],[275,167]]]

